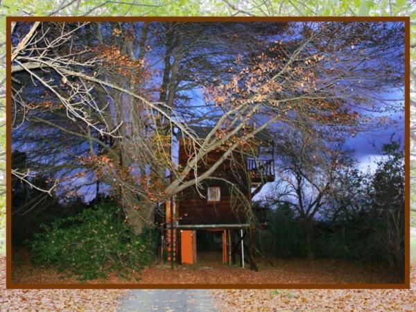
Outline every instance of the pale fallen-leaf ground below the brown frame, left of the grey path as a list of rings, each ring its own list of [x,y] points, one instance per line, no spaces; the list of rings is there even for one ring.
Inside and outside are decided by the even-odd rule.
[[[0,258],[0,311],[117,311],[120,290],[6,289],[6,258]]]

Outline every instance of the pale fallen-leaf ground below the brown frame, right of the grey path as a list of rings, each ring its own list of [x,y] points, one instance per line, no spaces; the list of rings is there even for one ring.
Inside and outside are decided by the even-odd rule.
[[[416,311],[416,267],[411,289],[213,290],[220,311]]]

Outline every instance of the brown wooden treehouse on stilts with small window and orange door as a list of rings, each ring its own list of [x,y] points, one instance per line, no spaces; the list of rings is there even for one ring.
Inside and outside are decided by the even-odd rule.
[[[193,128],[198,138],[205,139],[211,128]],[[178,164],[186,166],[192,155],[189,140],[180,134]],[[198,162],[197,176],[208,171],[225,155],[227,146],[207,153]],[[245,261],[257,269],[252,250],[253,227],[261,225],[264,211],[252,209],[252,198],[264,184],[275,180],[274,144],[270,134],[257,133],[244,147],[236,149],[208,178],[187,187],[166,203],[166,231],[163,237],[166,259],[174,263],[196,263],[197,236],[215,232],[222,236],[223,263]],[[194,179],[191,171],[187,180]],[[258,213],[260,212],[260,214]],[[260,218],[259,218],[260,217]]]

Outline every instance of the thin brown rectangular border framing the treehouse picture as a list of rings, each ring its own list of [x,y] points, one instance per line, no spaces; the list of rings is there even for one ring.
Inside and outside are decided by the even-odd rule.
[[[404,250],[404,283],[338,283],[338,284],[31,284],[31,283],[15,283],[11,280],[12,272],[12,218],[11,218],[11,23],[12,22],[140,22],[140,21],[182,21],[182,22],[284,22],[284,21],[392,21],[403,22],[405,27],[405,74],[404,74],[404,90],[405,90],[405,250]],[[6,17],[6,288],[13,289],[214,289],[214,288],[239,288],[239,289],[354,289],[354,288],[392,288],[406,289],[410,288],[410,17]],[[174,271],[173,271],[174,272]]]

